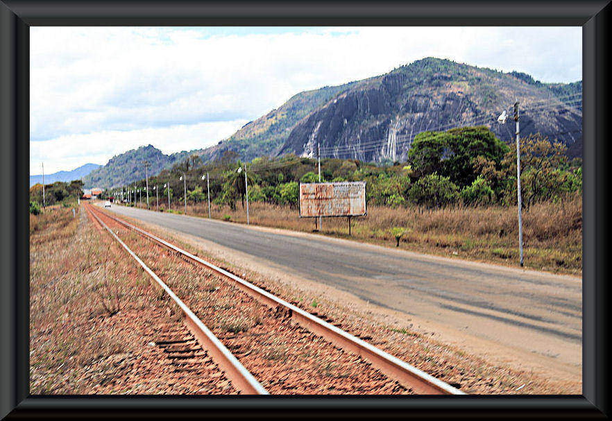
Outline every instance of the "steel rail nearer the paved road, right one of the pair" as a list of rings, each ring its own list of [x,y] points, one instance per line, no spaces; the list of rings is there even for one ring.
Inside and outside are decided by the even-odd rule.
[[[188,259],[206,266],[207,268],[214,270],[214,272],[229,278],[242,291],[248,293],[256,300],[269,305],[270,307],[280,306],[289,313],[291,318],[296,320],[297,323],[306,329],[309,329],[314,334],[323,336],[323,338],[334,343],[334,345],[337,345],[345,350],[350,350],[351,352],[361,356],[372,363],[373,366],[384,372],[387,376],[391,377],[392,379],[396,379],[403,386],[411,388],[415,393],[422,395],[466,395],[466,393],[454,388],[453,386],[450,386],[450,384],[445,383],[445,381],[436,379],[436,377],[427,374],[423,370],[419,370],[411,364],[398,359],[396,356],[393,356],[388,352],[384,352],[383,350],[378,349],[366,341],[349,334],[348,332],[344,332],[339,327],[336,327],[331,323],[322,320],[321,318],[313,316],[294,304],[276,297],[268,291],[265,291],[264,289],[243,280],[241,277],[238,277],[237,275],[234,275],[223,268],[219,268],[219,266],[215,266],[214,264],[211,264],[210,262],[197,257],[196,255],[192,255],[192,253],[182,250],[181,248],[178,248],[177,246],[174,246],[173,244],[160,239],[159,237],[146,232],[145,230],[142,230],[142,228],[132,225],[115,216],[109,215],[108,213],[103,212],[101,209],[96,209],[96,212],[100,212],[117,223],[130,228],[130,230],[135,230],[144,237],[152,239],[153,241],[160,243],[162,246],[170,248]]]

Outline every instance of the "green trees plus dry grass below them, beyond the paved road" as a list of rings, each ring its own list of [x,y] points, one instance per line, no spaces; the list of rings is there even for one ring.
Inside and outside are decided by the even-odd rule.
[[[582,164],[579,159],[569,160],[566,149],[561,142],[537,134],[521,140],[525,265],[580,275]],[[193,155],[149,178],[149,187],[160,189],[161,211],[167,211],[169,193],[171,212],[185,212],[180,180],[185,173],[187,213],[207,216],[207,184],[201,177],[208,174],[212,217],[243,223],[246,189],[244,172],[237,171],[243,167],[232,151],[210,164],[202,164]],[[293,155],[263,157],[246,168],[250,223],[304,232],[314,229],[312,219],[298,217],[298,201],[299,183],[318,181],[316,160]],[[323,159],[321,180],[366,181],[368,215],[352,219],[351,238],[518,264],[516,152],[488,128],[420,133],[403,163]],[[141,180],[130,189],[142,189],[144,184]],[[156,200],[151,190],[153,208]],[[144,207],[144,198],[136,205]],[[348,237],[348,221],[324,218],[321,232]]]

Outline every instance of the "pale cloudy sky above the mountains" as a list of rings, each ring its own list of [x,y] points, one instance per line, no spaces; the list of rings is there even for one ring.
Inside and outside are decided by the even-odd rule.
[[[582,78],[579,27],[32,27],[30,42],[31,174],[210,146],[300,91],[428,56]]]

